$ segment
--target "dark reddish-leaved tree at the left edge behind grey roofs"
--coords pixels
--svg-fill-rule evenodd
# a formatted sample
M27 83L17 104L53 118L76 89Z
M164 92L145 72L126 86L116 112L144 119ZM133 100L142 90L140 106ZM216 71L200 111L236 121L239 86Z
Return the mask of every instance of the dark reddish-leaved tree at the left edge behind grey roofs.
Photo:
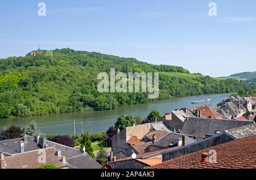
M24 133L24 129L20 129L18 126L11 126L7 130L0 133L0 140L16 139L20 138Z

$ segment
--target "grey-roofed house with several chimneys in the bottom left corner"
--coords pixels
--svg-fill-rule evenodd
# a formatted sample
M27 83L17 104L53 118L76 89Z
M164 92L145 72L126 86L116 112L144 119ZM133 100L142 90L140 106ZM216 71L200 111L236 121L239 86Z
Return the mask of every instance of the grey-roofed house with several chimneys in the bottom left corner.
M48 149L51 149L51 150L48 150ZM9 160L10 161L15 160L15 158L27 157L31 153L31 155L33 156L31 156L32 158L30 159L30 162L34 164L34 162L38 160L38 156L40 156L40 155L34 156L34 153L38 151L47 151L47 152L49 151L49 153L46 154L49 157L53 157L53 154L55 154L56 157L51 159L55 160L53 162L56 162L54 164L57 166L59 166L59 162L57 160L60 160L60 158L64 157L65 162L67 163L67 168L69 169L101 168L101 165L98 164L98 162L96 162L95 160L93 160L87 153L81 152L79 149L75 149L72 147L67 147L62 144L51 142L49 140L46 140L46 137L23 136L23 138L3 140L0 142L0 152L2 153L3 156L5 156L7 162ZM46 157L46 159L49 157ZM13 166L10 166L10 167L13 167ZM8 163L7 163L7 168L9 168ZM25 168L32 168L32 167L28 166ZM60 168L63 168L63 167L60 166Z

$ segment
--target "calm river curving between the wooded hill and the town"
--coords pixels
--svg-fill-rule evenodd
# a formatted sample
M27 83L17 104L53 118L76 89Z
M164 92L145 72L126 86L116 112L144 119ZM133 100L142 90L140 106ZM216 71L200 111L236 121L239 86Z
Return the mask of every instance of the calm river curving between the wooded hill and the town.
M101 112L62 113L34 117L0 119L0 127L2 130L11 125L24 127L28 122L35 120L38 123L40 131L44 132L46 135L72 135L74 134L75 120L76 134L81 134L82 132L101 132L108 130L110 126L113 126L121 114L137 114L142 118L145 118L152 109L155 109L164 115L167 112L171 112L171 110L183 107L195 108L196 106L200 106L202 104L191 104L191 102L201 100L204 97L210 98L212 101L208 104L212 107L216 107L218 102L225 100L230 95L231 93L181 97L171 100L155 101L148 104L123 106L117 109L104 110Z

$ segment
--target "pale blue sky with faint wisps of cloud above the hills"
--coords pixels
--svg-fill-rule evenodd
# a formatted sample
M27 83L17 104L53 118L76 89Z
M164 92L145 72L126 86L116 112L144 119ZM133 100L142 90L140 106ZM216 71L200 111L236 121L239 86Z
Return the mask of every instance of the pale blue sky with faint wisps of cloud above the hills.
M46 16L38 16L38 3ZM209 16L209 3L217 16ZM0 2L0 58L71 48L210 76L255 71L255 0L8 0Z

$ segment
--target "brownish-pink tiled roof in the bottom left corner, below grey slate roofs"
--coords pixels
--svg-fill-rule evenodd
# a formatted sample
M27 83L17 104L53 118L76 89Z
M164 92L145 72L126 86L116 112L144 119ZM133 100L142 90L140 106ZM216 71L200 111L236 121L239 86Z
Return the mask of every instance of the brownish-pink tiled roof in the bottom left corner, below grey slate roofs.
M39 151L46 152L46 163L38 161L39 157L42 156L42 153ZM54 148L38 149L5 157L5 161L7 169L34 169L46 164L55 164L59 168L67 166L68 164L61 162L61 157L57 157L55 153Z

